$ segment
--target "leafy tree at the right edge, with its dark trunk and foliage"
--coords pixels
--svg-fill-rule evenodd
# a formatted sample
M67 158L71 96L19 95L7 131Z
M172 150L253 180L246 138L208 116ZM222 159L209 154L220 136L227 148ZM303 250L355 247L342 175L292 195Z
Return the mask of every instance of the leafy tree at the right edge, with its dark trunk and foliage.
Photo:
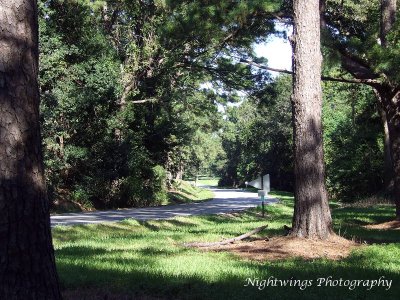
M396 216L400 217L399 22L396 0L326 1L324 41L341 62L349 82L371 86L386 132L386 165L392 161ZM347 77L348 78L348 77ZM390 152L389 152L390 150ZM391 172L386 168L387 173Z

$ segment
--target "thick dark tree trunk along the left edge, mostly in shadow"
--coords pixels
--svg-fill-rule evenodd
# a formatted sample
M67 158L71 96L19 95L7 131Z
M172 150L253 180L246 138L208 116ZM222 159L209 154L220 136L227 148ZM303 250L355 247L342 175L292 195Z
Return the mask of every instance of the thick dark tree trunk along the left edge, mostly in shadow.
M39 130L36 0L0 0L0 299L60 299Z

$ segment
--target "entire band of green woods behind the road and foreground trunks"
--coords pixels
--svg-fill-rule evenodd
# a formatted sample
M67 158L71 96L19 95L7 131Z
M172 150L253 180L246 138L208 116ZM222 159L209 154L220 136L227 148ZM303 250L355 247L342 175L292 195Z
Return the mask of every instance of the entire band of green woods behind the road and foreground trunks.
M385 153L392 158L393 151L387 154L376 92L398 82L396 31L385 33L385 47L375 45L380 1L368 9L325 4L323 76L338 79L323 84L329 194L391 193L393 162ZM167 197L172 179L201 172L234 186L269 173L274 188L293 190L291 77L271 78L245 63L265 65L252 45L285 35L274 25L292 25L290 1L51 0L39 7L53 201L153 205ZM371 78L360 73L367 67Z

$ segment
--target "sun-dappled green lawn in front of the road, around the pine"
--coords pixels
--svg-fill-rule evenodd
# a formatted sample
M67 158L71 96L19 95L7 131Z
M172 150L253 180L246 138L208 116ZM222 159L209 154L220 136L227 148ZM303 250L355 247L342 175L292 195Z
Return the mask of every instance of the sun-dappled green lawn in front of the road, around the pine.
M266 219L251 210L235 216L56 227L53 237L62 288L162 299L398 299L400 232L362 227L390 220L394 216L390 206L351 208L332 204L336 232L373 243L341 261L256 262L231 253L181 246L189 241L233 237L266 223L268 229L259 236L283 234L282 226L291 223L293 197L287 193L275 196L282 202L268 206ZM313 282L303 290L298 286L244 286L247 278L268 280L271 276ZM392 285L388 291L383 287L318 287L317 279L328 276L343 280L375 280L385 276L392 280Z

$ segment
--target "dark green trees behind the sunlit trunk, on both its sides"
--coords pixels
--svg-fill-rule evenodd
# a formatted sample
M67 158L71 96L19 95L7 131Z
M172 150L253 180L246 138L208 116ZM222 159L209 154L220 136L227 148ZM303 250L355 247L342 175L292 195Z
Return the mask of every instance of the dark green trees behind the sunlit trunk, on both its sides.
M260 173L272 186L293 191L291 77L278 77L257 103L229 110L223 145L222 184L242 185ZM337 199L384 196L384 133L373 91L364 86L323 84L327 187ZM382 194L381 194L382 193Z

